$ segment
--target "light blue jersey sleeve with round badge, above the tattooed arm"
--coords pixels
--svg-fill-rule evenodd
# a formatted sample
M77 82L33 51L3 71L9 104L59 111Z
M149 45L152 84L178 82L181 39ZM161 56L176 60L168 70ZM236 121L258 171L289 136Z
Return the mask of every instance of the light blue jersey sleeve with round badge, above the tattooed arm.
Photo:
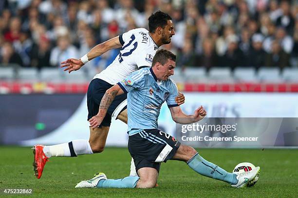
M141 89L144 87L144 74L140 72L140 70L133 72L128 77L126 77L123 81L118 82L117 84L124 91L124 93L128 93L134 89Z

